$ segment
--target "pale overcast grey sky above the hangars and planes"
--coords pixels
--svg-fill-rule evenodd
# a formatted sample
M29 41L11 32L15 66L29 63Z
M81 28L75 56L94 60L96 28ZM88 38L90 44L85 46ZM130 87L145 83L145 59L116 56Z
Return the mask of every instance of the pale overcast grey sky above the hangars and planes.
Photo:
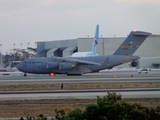
M159 0L0 0L0 51L94 37L97 24L103 37L160 34L159 6Z

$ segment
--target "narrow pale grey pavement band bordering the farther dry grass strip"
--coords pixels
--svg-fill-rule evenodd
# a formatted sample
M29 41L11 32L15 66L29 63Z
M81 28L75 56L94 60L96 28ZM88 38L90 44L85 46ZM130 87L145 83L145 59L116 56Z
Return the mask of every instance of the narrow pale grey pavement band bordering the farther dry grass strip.
M27 79L27 80L0 80L2 85L18 85L18 84L59 84L59 83L155 83L160 82L160 77L128 77L128 78L77 78L77 79Z

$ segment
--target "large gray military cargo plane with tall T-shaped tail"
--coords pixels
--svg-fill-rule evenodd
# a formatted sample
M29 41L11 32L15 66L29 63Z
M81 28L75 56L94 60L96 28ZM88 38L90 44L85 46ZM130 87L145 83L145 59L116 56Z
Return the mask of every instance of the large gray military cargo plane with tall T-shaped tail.
M112 69L123 63L140 59L133 56L144 40L151 33L142 31L131 31L126 40L112 55L90 56L90 57L37 57L23 60L17 65L19 71L32 74L67 74L82 75L86 73L99 72L104 69Z

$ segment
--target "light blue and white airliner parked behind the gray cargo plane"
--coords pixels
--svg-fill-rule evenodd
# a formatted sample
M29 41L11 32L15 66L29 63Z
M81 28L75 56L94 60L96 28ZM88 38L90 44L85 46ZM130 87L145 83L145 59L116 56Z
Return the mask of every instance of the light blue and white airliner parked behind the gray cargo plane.
M90 52L76 52L71 55L71 57L88 57L88 56L97 56L96 46L99 42L99 25L96 26L95 37L93 41L92 51Z

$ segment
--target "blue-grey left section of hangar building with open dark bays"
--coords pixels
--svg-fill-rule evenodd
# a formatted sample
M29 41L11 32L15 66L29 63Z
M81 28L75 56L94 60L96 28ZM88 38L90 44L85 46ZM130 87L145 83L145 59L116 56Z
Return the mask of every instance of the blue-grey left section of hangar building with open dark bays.
M77 39L37 42L37 57L69 56L78 51Z

